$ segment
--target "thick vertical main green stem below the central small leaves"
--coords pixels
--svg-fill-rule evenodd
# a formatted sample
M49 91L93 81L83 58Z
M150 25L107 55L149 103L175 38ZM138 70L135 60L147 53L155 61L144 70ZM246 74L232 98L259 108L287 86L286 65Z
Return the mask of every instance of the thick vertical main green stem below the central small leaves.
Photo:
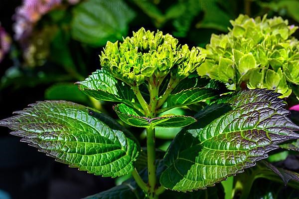
M147 128L147 151L148 151L148 175L149 175L149 199L157 199L156 188L156 169L155 169L155 137L154 128Z

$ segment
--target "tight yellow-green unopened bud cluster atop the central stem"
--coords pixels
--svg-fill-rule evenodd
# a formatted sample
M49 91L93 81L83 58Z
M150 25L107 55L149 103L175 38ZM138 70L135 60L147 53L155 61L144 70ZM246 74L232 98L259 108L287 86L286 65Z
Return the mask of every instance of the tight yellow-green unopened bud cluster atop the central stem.
M179 79L196 70L205 58L198 48L178 45L170 34L163 35L141 28L124 42L107 42L100 56L105 70L129 85L163 78L171 72Z

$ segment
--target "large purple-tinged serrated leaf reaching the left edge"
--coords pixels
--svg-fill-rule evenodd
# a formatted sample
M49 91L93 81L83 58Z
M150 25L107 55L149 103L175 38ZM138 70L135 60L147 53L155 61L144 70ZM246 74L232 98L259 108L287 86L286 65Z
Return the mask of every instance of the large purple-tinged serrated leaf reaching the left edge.
M58 162L105 177L123 176L134 169L139 144L130 132L96 110L44 101L15 113L1 120L0 126L9 127L11 134Z

